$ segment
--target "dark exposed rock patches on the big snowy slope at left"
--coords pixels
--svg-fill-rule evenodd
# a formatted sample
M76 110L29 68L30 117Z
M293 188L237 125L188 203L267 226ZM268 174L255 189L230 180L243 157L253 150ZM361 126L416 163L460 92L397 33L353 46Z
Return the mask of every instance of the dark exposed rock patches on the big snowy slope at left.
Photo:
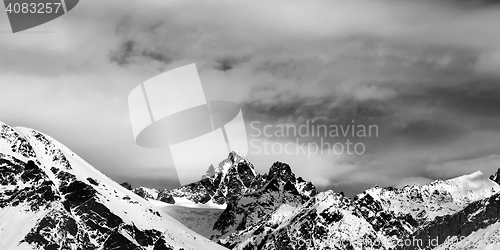
M127 230L132 230L133 224L124 223L111 212L100 200L93 184L78 180L74 174L59 168L51 169L55 177L52 180L32 160L24 163L1 155L0 164L2 186L6 187L0 208L45 211L21 243L41 249L98 249L102 245L139 247L137 242L122 235L131 233ZM149 234L143 237L143 246L152 246L162 235L155 229L151 229Z

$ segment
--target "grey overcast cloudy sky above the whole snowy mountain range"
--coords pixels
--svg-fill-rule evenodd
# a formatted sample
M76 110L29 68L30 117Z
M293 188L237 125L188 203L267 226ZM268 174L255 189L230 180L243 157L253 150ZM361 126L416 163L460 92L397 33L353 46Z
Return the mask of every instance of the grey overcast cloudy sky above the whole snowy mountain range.
M118 182L173 188L168 148L135 144L127 97L196 63L216 99L241 105L249 134L253 121L379 129L350 138L362 155L251 151L261 173L281 160L349 195L490 175L500 168L499 23L499 4L465 0L87 0L12 34L2 11L0 121L51 135Z

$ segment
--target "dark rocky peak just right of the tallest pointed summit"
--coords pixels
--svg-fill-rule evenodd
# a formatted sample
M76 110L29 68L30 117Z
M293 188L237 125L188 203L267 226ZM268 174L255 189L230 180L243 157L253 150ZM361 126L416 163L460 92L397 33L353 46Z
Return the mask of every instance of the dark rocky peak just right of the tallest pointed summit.
M275 162L268 173L258 175L245 193L228 203L214 225L218 233L212 239L235 247L264 225L278 226L286 215L315 194L314 185L297 179L288 164Z

